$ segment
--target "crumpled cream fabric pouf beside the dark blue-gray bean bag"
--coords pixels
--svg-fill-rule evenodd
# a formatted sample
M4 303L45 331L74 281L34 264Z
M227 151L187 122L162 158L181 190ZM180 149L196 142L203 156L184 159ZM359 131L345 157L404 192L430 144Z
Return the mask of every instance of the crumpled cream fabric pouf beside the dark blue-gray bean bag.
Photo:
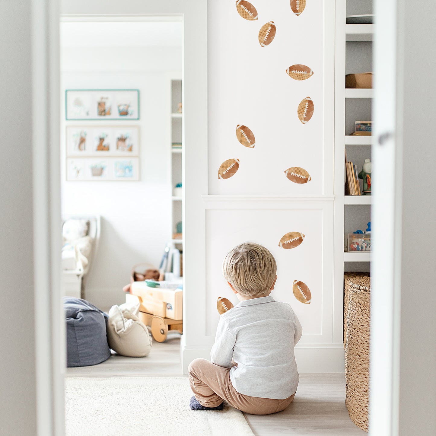
M139 304L112 306L109 310L107 338L109 347L128 357L144 357L150 353L151 339L148 329L136 316Z

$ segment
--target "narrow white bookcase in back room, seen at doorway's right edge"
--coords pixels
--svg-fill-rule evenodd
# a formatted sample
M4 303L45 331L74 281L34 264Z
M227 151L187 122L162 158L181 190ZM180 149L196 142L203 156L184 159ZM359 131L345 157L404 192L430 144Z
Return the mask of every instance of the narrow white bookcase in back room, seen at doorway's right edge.
M178 112L178 104L182 102L182 81L179 79L172 79L170 81L171 87L171 204L172 204L172 228L171 228L171 243L183 252L183 240L172 239L173 234L176 233L177 223L182 221L182 196L174 195L174 187L177 183L182 182L182 148L175 148L175 144L182 143L182 120L183 113ZM182 109L183 110L183 109Z

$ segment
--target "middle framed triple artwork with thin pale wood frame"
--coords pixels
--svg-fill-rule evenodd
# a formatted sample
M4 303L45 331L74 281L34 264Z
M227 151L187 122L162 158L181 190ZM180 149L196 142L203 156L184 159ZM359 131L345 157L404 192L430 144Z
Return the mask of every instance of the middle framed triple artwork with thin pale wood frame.
M68 126L67 157L138 156L139 127Z

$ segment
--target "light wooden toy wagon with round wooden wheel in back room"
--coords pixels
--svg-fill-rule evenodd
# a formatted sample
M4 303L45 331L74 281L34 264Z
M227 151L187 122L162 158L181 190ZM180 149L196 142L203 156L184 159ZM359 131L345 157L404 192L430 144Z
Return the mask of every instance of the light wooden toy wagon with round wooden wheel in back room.
M146 282L133 282L126 302L140 303L140 320L151 327L157 342L164 342L169 330L183 333L182 297L181 289L152 288Z

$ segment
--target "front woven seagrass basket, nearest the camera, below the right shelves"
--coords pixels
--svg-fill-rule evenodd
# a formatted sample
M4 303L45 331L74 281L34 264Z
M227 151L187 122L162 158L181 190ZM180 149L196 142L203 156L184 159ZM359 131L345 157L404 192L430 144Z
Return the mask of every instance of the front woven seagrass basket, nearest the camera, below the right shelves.
M370 293L350 295L345 342L345 405L351 420L368 431Z

